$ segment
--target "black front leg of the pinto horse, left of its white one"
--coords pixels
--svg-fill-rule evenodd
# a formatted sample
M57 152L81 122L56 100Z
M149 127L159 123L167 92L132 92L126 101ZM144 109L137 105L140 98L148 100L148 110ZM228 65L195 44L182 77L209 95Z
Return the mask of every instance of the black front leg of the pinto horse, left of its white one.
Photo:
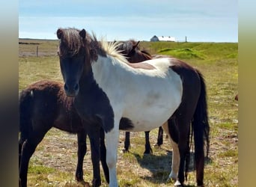
M91 143L91 161L93 163L94 179L92 186L100 186L100 123L91 124L88 128L88 136Z

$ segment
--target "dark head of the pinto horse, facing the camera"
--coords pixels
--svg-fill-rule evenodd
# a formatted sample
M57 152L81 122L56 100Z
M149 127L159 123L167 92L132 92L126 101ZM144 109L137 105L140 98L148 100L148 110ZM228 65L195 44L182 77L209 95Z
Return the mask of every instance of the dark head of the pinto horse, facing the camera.
M79 92L79 79L91 68L91 62L97 61L97 51L85 29L59 28L59 59L61 74L64 79L64 91L67 96L76 96Z

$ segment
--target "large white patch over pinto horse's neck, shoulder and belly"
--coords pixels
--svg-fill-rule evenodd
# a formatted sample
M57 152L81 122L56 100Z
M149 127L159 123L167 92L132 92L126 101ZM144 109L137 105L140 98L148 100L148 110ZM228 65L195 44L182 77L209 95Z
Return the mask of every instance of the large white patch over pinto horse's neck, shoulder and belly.
M121 56L122 57L122 56ZM169 58L147 61L153 70L134 69L125 58L99 55L92 64L94 79L112 105L114 113L134 122L130 131L148 131L165 123L181 102L180 76L170 68ZM150 120L146 120L150 116Z

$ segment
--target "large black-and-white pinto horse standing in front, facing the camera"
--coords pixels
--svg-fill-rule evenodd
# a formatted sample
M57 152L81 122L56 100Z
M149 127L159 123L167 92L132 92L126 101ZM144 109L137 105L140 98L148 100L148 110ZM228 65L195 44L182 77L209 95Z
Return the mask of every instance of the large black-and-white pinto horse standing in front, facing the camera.
M171 141L178 159L169 177L177 180L177 186L183 185L187 142L192 130L196 180L198 186L203 186L204 144L209 146L210 127L201 73L176 58L130 64L116 49L117 44L98 42L85 29L59 28L57 37L65 93L74 96L74 106L82 119L100 121L104 129L109 186L118 186L119 130L145 132L161 124L171 139L178 142Z

